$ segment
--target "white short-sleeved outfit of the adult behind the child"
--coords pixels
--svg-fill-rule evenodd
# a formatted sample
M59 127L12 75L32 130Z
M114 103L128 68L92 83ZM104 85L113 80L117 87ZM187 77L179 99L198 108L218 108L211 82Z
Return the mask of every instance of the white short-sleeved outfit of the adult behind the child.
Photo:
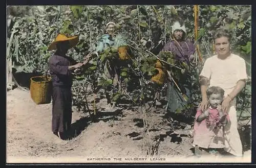
M210 86L223 88L226 97L239 80L247 79L245 61L235 54L230 54L224 60L215 55L206 59L200 76L208 78ZM228 114L230 124L224 127L225 151L236 156L242 156L242 143L237 128L236 99L231 102Z

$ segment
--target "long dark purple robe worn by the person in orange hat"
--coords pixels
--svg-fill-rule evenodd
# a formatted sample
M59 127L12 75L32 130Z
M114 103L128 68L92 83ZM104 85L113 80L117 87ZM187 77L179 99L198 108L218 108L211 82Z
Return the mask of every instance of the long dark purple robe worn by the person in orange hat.
M67 132L72 119L72 74L69 67L75 61L67 56L53 55L49 59L52 76L52 131Z

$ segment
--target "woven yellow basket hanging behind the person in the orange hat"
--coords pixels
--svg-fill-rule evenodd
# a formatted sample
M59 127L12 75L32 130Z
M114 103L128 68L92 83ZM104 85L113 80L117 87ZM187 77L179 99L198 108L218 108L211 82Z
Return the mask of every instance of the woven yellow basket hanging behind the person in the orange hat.
M30 78L30 95L36 104L51 103L52 81L45 76Z

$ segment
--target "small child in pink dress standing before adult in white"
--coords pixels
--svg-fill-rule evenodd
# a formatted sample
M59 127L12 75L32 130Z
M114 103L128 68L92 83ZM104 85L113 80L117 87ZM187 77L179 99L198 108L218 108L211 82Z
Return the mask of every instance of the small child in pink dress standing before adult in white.
M224 90L218 86L211 86L206 94L210 106L204 112L197 111L193 131L193 147L196 155L204 151L217 154L225 147L223 126L229 122L229 116L221 110Z

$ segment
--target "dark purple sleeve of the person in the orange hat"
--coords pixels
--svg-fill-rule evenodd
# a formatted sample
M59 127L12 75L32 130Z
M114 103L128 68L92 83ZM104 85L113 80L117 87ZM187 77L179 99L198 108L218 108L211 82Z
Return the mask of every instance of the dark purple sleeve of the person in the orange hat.
M48 64L51 71L53 71L55 74L69 75L70 73L69 66L60 65L60 61L55 57L50 57Z

